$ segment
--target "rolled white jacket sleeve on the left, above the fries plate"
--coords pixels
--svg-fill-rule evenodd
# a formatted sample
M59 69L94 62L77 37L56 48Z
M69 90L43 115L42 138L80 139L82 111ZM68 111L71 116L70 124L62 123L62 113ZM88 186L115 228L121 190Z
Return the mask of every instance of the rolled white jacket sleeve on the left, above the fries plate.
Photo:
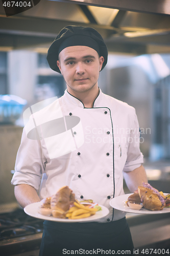
M11 183L13 185L28 184L38 190L41 176L44 173L45 161L40 141L27 138L26 131L23 129Z

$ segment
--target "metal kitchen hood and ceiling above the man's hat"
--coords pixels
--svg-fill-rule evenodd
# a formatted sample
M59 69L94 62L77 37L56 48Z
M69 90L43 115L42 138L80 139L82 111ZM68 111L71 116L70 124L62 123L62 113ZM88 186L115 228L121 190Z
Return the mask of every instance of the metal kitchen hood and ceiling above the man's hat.
M0 2L0 50L39 47L44 51L64 26L80 25L98 30L110 52L169 53L169 14L170 0L41 0L6 17Z

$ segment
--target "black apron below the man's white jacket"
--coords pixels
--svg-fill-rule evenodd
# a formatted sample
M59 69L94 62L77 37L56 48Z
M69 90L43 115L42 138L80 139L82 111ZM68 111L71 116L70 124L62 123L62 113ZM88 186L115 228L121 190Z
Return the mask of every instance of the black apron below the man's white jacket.
M39 256L123 255L126 250L133 254L133 249L126 218L109 223L44 221Z

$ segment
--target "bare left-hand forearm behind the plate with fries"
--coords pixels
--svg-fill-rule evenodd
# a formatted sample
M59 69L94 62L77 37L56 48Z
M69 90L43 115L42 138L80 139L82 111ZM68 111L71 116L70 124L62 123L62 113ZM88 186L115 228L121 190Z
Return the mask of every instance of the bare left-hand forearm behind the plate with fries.
M40 198L34 187L28 184L15 185L14 193L19 205L24 208L28 204L40 202Z

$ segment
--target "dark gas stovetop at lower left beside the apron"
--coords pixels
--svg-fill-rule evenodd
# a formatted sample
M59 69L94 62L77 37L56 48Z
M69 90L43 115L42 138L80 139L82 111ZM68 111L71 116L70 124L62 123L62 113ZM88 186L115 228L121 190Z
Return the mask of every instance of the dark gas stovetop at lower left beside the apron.
M41 243L43 220L27 215L22 209L0 214L0 251L13 255L37 249Z

